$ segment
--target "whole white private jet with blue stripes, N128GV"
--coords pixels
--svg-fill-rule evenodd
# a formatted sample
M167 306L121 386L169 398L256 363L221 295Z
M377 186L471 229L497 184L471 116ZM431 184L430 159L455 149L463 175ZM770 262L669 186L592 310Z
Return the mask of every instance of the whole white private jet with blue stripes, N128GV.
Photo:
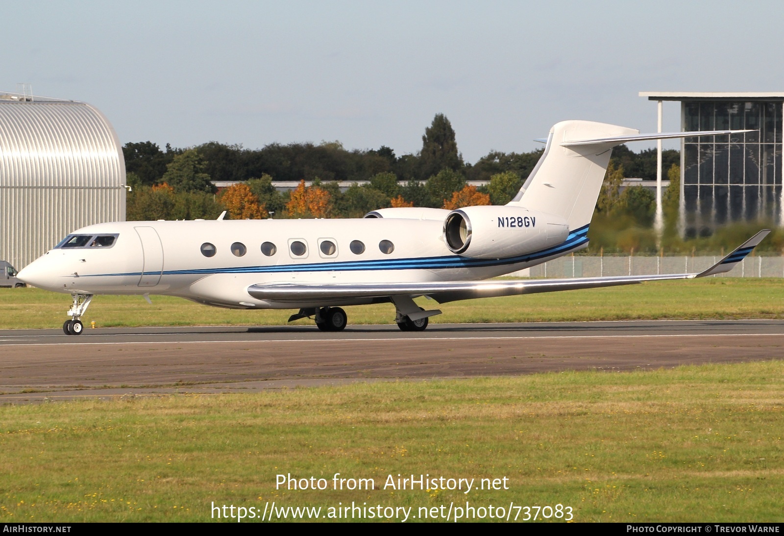
M225 308L298 309L321 330L342 330L341 305L389 303L401 330L424 330L413 298L510 296L688 279L728 272L763 231L702 273L480 282L588 244L588 225L615 145L746 132L640 134L622 126L560 122L539 163L504 206L391 208L354 220L122 221L68 235L19 273L71 294L63 326L81 334L95 294L167 294Z

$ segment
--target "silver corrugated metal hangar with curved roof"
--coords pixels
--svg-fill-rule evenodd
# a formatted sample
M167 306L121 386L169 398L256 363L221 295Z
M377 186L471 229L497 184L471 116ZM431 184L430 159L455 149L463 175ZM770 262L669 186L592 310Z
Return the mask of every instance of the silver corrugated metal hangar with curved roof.
M103 221L125 221L125 160L103 114L74 100L0 96L0 259L24 268Z

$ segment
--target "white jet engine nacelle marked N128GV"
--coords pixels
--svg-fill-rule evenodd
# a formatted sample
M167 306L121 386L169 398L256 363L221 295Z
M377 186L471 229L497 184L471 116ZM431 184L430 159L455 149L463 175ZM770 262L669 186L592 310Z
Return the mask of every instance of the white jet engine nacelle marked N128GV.
M562 217L521 206L466 206L444 221L444 241L453 253L481 259L516 257L564 242Z

